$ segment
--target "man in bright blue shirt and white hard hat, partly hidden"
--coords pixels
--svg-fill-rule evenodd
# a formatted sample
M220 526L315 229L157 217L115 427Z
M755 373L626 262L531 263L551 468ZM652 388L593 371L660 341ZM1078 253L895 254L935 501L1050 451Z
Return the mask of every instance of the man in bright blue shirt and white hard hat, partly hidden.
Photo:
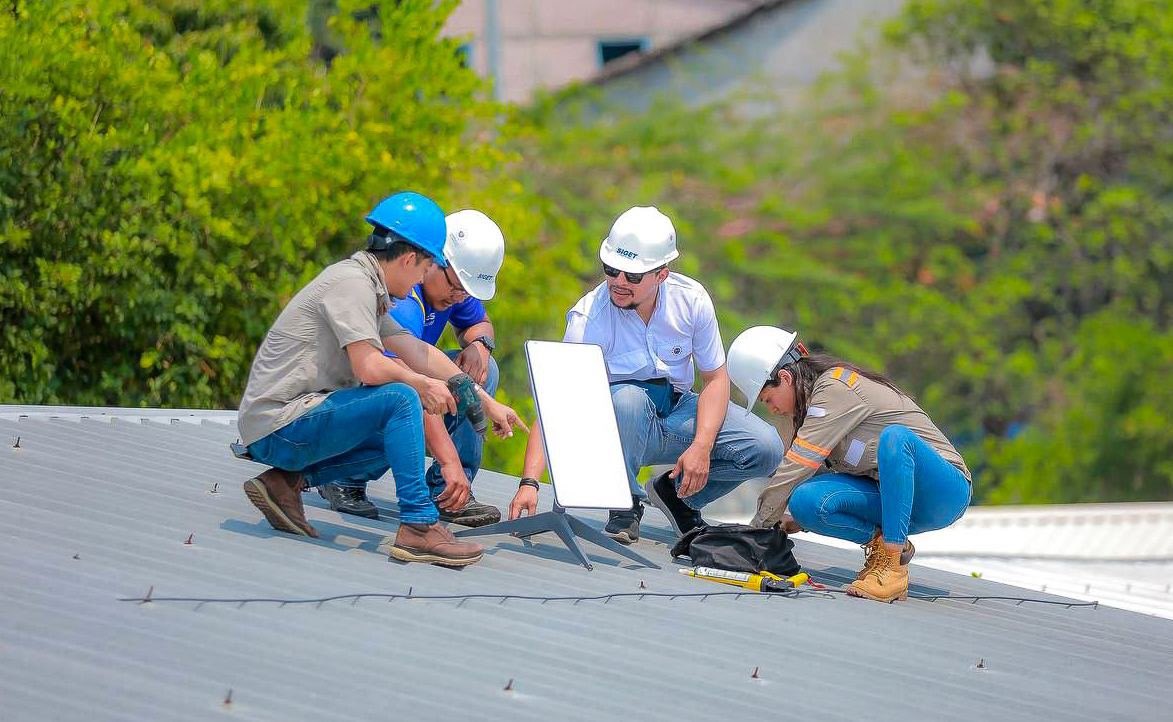
M391 308L391 316L415 338L436 346L450 323L460 350L448 355L473 381L491 396L497 390L497 365L493 359L495 333L484 304L496 293L496 275L504 260L504 237L480 211L465 210L446 219L448 266L433 266L406 300ZM449 484L469 485L481 466L484 438L465 416L425 415L423 436L435 462L427 471L432 498ZM330 508L344 513L378 518L379 510L366 498L366 482L338 482L318 488ZM501 519L501 510L477 502L454 511L440 511L445 522L482 526Z

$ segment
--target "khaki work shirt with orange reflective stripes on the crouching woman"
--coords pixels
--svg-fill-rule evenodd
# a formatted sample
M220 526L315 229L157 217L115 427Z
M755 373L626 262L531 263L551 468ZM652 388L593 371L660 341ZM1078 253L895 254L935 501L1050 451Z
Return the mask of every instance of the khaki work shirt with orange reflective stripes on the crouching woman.
M751 524L773 526L780 522L794 489L820 471L879 481L880 432L893 424L907 427L972 482L965 459L916 402L849 368L835 367L815 379L806 418L758 496L758 513Z

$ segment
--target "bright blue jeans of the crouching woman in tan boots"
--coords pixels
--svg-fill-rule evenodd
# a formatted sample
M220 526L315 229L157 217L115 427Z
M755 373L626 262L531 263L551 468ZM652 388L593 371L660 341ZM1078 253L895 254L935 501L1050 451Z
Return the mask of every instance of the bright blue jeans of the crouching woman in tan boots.
M802 529L866 544L879 527L883 540L944 529L961 518L972 491L965 476L907 427L880 434L880 482L822 474L791 495L791 516Z

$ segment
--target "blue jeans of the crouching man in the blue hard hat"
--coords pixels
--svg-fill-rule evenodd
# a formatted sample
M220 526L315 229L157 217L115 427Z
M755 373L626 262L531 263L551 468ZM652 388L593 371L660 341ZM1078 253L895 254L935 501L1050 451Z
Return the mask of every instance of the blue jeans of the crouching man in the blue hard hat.
M340 389L249 444L252 458L300 471L310 486L395 477L399 518L434 524L440 516L423 481L423 409L406 383Z

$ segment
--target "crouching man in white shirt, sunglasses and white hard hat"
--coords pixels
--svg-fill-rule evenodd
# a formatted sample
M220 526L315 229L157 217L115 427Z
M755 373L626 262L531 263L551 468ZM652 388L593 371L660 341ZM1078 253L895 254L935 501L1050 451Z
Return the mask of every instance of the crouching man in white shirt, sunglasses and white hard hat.
M730 402L712 299L697 281L669 271L678 256L676 230L664 213L628 210L599 250L604 282L567 314L563 340L595 343L606 361L632 497L631 509L611 512L606 532L626 544L639 538L644 500L663 511L678 534L686 533L704 524L701 508L746 479L769 476L784 454L773 427ZM692 391L693 363L699 394ZM636 478L651 464L674 465L645 491ZM534 479L544 466L535 428L510 518L534 513Z

